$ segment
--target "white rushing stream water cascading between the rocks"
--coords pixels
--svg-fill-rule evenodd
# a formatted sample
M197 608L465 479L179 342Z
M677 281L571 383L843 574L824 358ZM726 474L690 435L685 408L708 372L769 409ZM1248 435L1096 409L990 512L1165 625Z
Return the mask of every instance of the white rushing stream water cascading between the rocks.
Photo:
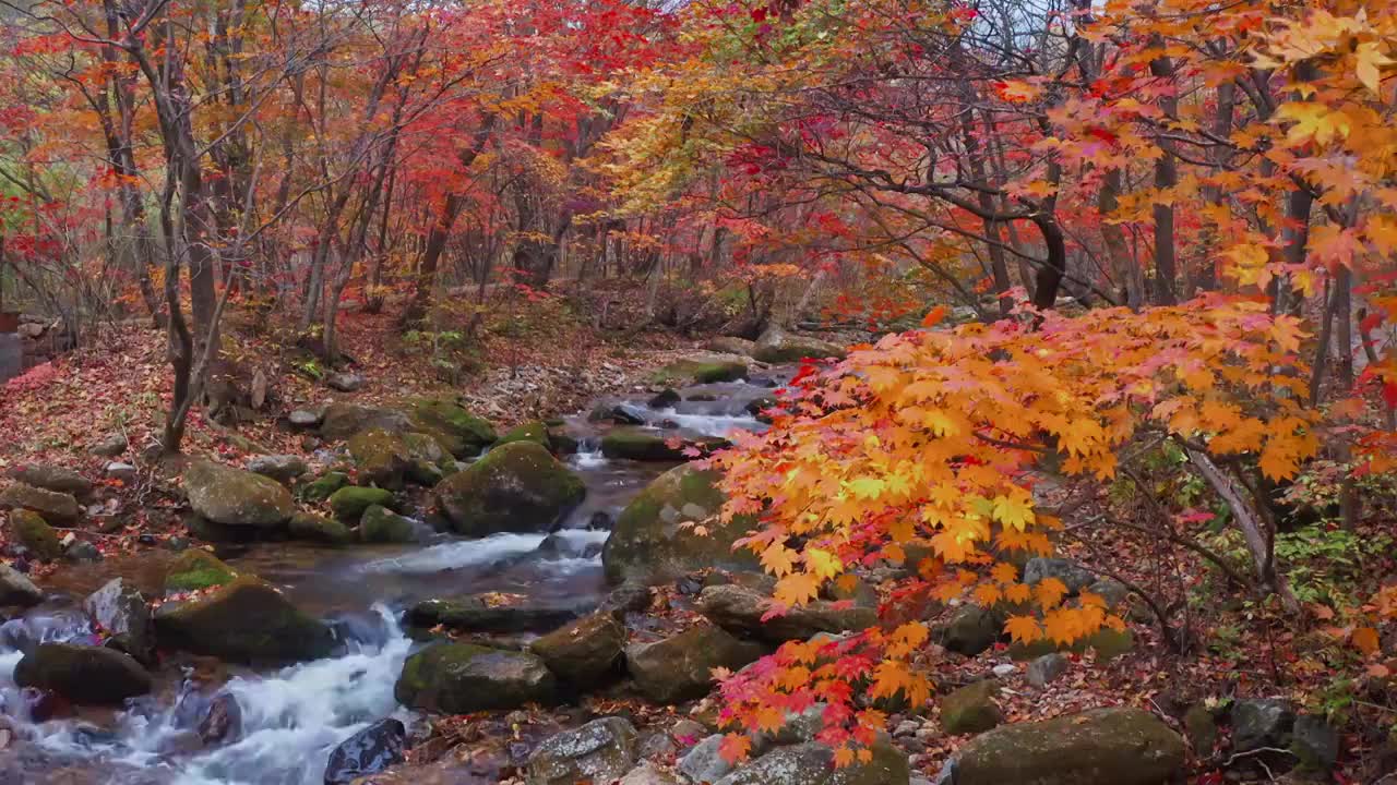
M624 402L644 416L638 427L665 436L728 436L763 427L746 406L774 386L767 380L697 386L662 409L650 409L644 398ZM197 663L175 673L166 666L154 696L120 711L35 722L27 696L14 684L14 668L38 643L95 640L77 608L82 595L73 592L4 623L0 722L15 739L0 751L0 785L321 785L339 742L384 717L414 721L393 697L415 645L398 624L407 606L483 591L566 602L578 610L601 602L606 585L599 550L610 522L671 464L609 461L597 451L605 426L583 415L567 425L583 448L566 461L585 482L587 500L548 549L539 548L545 534L433 535L415 546L258 545L229 557L281 587L307 612L332 620L342 641L332 658L215 679L194 673ZM210 701L225 693L240 708L242 732L232 742L205 746L196 726Z

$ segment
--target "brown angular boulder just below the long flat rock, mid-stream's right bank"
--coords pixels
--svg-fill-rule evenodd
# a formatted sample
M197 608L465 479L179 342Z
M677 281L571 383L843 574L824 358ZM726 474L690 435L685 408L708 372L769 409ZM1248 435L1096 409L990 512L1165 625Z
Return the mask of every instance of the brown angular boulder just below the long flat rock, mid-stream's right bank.
M767 654L761 644L732 637L722 627L698 624L678 636L626 647L626 669L654 703L700 698L712 689L712 669L738 670Z

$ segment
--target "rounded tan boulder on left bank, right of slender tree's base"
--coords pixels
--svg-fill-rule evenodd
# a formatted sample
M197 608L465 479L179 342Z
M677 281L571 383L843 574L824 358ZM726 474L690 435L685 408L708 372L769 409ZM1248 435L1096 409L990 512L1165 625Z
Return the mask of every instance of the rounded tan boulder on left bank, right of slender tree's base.
M296 511L291 492L279 482L214 461L190 464L184 490L196 513L229 527L279 527Z

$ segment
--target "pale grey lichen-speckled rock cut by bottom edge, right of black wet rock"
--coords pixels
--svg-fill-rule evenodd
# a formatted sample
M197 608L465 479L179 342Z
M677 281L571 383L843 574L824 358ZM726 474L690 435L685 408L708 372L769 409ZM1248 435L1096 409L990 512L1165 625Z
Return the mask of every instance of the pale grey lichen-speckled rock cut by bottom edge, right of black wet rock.
M637 733L619 717L546 739L528 757L527 785L610 782L636 765Z

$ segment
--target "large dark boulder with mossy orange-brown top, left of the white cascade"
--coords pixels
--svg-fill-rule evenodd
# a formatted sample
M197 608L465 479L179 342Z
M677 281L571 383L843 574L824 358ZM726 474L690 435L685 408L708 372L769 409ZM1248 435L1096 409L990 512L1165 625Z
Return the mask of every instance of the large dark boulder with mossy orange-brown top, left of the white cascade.
M253 575L166 602L155 610L155 633L162 647L251 665L320 659L335 647L328 626Z

